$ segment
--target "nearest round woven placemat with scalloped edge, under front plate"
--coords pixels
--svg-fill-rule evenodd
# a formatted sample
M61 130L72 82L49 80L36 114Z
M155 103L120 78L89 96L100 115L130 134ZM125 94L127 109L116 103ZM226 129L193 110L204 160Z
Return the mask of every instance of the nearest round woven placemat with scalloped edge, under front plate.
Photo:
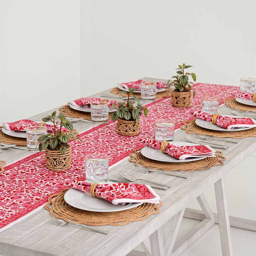
M51 195L48 198L48 203L45 208L50 211L50 214L57 218L63 219L66 222L75 222L90 226L122 226L132 221L144 220L152 214L159 212L160 204L144 203L138 207L115 212L93 212L80 210L68 205L64 200L64 195L69 189L63 189L58 194ZM55 197L55 198L54 198ZM54 200L52 200L54 198ZM103 199L102 199L103 200ZM51 205L51 206L50 206Z

